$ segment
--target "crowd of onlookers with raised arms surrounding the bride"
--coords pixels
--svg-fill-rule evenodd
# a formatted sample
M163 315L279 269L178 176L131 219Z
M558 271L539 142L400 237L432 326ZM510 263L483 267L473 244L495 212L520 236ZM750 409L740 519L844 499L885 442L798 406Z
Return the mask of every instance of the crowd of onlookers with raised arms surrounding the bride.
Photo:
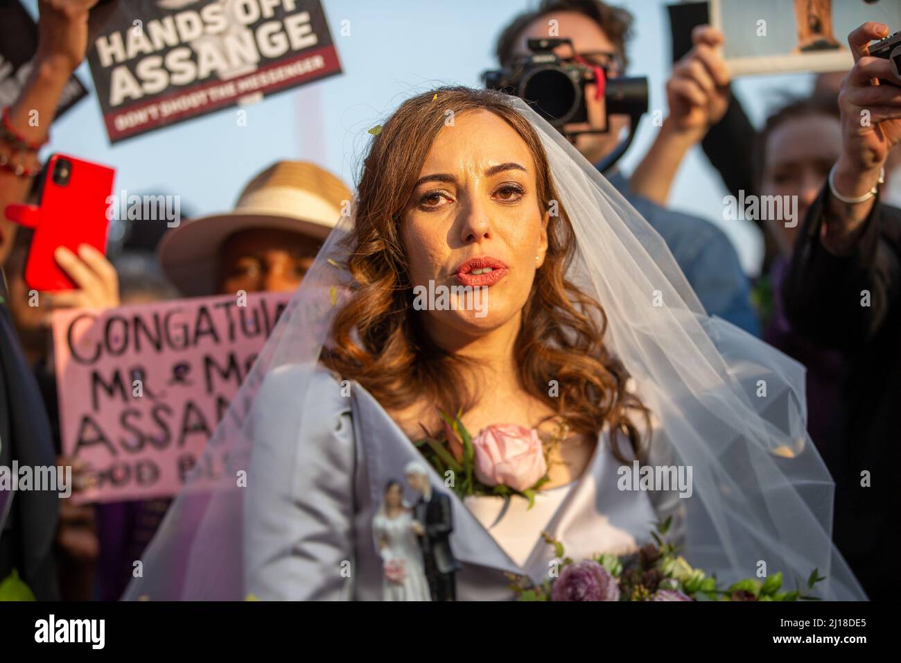
M39 3L35 66L0 134L0 209L40 195L39 149L63 86L85 57L95 4ZM591 60L608 78L625 73L633 17L601 0L542 0L512 17L499 26L498 65L510 66L528 38L546 36L551 18L575 51L560 47L561 57ZM733 93L719 51L723 34L698 26L693 48L673 67L669 115L649 152L631 176L615 167L603 173L666 243L708 314L804 365L806 428L835 482L833 540L871 599L899 585L890 566L901 504L888 476L901 460L901 210L880 198L898 160L901 81L894 85L888 60L866 55L869 41L887 33L877 23L860 26L848 38L851 71L819 75L811 95L787 99L755 128ZM587 97L589 121L599 121L603 98ZM35 110L39 124L29 121ZM862 110L870 114L866 126ZM572 144L600 163L625 122L614 116L609 132L578 134ZM766 254L754 279L719 227L668 207L679 165L698 144L734 196L797 201L797 223L757 221ZM40 293L37 307L24 277L32 231L0 220L0 465L72 465L76 490L92 481L77 459L62 457L54 310L297 289L355 187L308 161L275 161L247 175L232 211L182 216L172 228L164 220L123 221L123 238L105 254L60 249L57 261L76 287ZM75 505L55 494L18 494L0 532L0 580L17 569L39 600L117 600L170 503Z

